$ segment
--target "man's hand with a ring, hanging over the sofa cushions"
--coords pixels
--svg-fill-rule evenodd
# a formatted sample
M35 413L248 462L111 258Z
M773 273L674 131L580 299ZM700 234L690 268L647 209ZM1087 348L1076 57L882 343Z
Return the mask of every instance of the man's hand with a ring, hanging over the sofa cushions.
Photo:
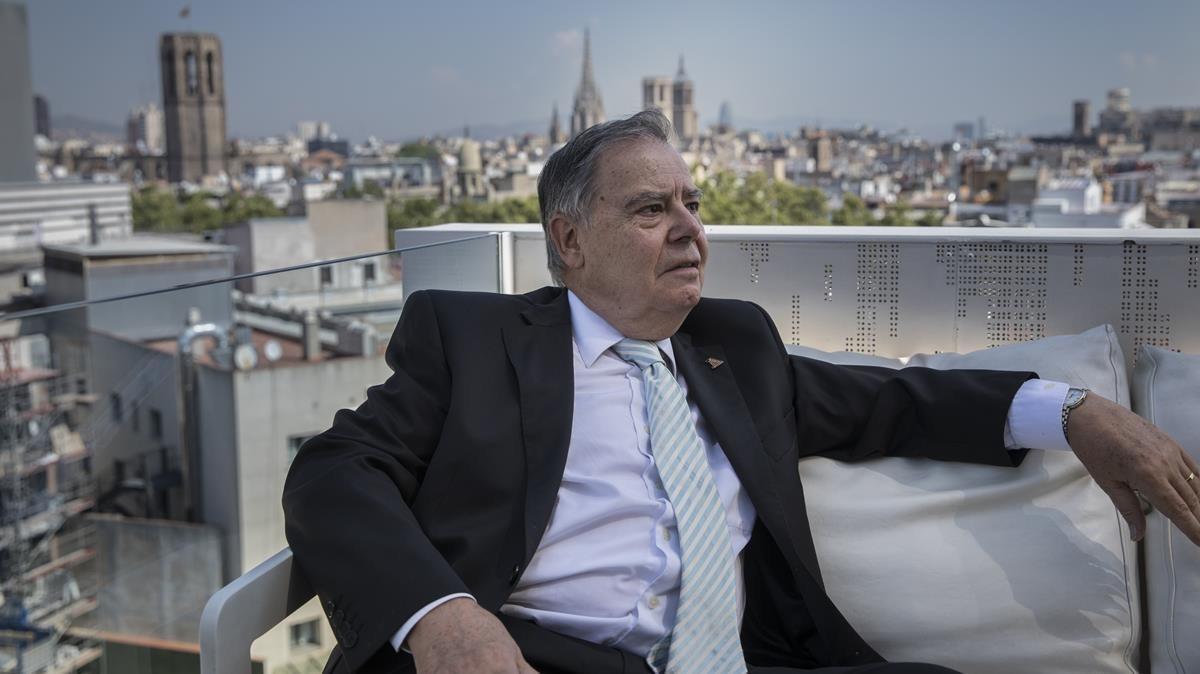
M1200 468L1175 440L1094 392L1072 410L1067 423L1070 447L1129 522L1133 540L1146 532L1136 489L1200 546Z

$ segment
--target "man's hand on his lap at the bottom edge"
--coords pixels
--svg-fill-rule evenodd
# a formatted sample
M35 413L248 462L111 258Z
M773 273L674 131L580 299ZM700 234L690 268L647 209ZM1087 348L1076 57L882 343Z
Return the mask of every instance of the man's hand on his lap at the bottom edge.
M466 597L420 619L408 634L420 674L536 674L500 621Z

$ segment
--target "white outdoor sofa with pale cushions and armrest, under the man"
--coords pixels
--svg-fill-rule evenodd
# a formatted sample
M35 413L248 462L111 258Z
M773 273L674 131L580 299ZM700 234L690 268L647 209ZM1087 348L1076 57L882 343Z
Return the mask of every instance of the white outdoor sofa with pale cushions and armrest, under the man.
M1106 325L907 363L790 349L1033 369L1132 404L1200 458L1200 356L1146 347L1130 377ZM1133 673L1147 660L1153 674L1200 674L1200 550L1152 513L1142 586L1138 546L1070 452L1032 451L1018 469L809 458L799 470L826 585L886 657L967 674ZM290 568L283 550L214 595L205 674L248 673L251 640L311 597Z

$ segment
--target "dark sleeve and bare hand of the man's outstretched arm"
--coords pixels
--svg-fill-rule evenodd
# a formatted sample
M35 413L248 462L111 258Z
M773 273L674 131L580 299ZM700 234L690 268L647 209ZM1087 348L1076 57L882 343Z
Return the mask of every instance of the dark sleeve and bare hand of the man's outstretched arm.
M1025 450L1006 449L1004 428L1033 373L893 371L787 356L774 323L758 311L792 368L802 451L845 461L924 456L1018 465L1025 458ZM1094 393L1070 413L1067 439L1134 540L1146 531L1140 493L1200 546L1200 467L1175 440Z

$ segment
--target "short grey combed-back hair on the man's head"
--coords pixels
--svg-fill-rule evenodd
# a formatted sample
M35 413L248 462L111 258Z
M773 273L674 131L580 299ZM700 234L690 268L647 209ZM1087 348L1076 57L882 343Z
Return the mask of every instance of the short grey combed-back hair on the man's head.
M563 284L565 265L550 237L550 221L562 213L578 225L587 225L600 156L618 143L638 138L671 143L671 122L658 110L642 110L625 119L598 124L551 155L541 169L538 205L541 229L546 233L546 266L554 283Z

